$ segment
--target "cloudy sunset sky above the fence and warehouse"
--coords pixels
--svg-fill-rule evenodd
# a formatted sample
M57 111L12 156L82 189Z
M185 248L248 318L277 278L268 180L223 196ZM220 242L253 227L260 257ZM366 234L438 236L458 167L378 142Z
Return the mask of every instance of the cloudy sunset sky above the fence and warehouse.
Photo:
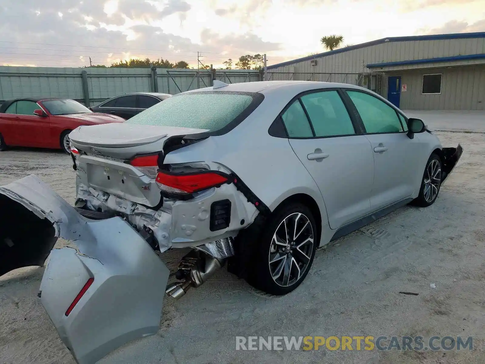
M267 53L275 64L388 36L485 31L485 0L0 0L0 65L109 66L130 57L197 67Z

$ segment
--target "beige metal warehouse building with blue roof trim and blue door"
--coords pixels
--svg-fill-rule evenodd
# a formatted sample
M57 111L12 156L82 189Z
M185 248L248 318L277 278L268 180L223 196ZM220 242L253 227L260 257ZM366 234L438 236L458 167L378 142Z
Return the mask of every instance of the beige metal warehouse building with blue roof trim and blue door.
M358 84L401 109L485 110L485 32L384 38L266 69L268 80Z

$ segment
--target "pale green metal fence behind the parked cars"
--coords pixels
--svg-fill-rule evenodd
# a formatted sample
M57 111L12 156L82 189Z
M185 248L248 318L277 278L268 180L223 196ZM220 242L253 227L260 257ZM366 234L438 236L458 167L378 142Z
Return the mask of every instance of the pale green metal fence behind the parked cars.
M0 66L0 104L19 97L61 97L84 103L85 71L90 105L131 92L154 91L149 68L67 68ZM215 78L226 83L261 81L257 70L216 70ZM157 69L158 92L172 95L210 86L212 74L196 69Z

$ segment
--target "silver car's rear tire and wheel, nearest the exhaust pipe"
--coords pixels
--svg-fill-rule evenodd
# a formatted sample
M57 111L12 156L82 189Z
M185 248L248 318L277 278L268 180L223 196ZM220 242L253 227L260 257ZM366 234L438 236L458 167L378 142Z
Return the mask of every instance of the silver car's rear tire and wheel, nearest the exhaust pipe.
M261 229L246 280L272 295L290 293L307 276L319 242L307 206L298 202L281 206Z

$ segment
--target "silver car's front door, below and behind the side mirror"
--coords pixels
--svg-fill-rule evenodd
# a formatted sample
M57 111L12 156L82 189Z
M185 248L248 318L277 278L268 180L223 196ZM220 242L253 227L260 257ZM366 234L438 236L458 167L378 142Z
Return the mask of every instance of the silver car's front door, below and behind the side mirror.
M410 197L415 188L413 176L419 160L418 138L409 139L407 125L386 101L359 90L347 90L371 142L374 157L372 211ZM404 120L403 120L404 121Z

